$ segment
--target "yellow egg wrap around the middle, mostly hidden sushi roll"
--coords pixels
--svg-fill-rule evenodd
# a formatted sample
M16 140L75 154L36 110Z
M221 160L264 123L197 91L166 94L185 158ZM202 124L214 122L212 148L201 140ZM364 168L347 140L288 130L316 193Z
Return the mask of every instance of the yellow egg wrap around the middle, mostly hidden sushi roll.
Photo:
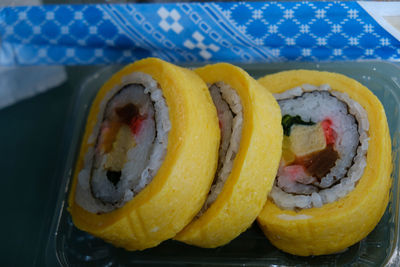
M272 188L282 146L281 113L272 94L244 70L220 63L196 69L209 85L224 82L243 107L240 147L221 193L174 239L200 247L224 245L245 231Z

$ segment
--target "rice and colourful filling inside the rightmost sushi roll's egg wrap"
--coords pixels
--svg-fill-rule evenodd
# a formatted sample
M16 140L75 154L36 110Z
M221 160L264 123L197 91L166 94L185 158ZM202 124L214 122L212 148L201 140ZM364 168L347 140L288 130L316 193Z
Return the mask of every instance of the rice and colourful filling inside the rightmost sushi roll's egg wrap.
M307 209L351 192L366 166L366 111L328 85L276 94L282 111L282 158L269 197L283 209Z

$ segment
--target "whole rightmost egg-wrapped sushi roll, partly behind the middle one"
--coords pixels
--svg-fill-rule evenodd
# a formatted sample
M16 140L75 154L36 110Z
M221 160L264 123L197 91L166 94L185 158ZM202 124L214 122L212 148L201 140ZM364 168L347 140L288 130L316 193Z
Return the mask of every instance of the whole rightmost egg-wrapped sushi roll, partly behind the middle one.
M279 249L301 256L340 252L385 212L391 141L384 109L341 74L293 70L259 82L282 111L282 158L258 222Z

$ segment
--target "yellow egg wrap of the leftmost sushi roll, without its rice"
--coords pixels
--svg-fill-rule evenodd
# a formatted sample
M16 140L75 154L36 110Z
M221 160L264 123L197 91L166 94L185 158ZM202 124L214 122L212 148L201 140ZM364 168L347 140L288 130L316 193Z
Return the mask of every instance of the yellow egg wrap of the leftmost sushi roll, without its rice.
M94 214L75 202L78 173L90 146L102 99L133 72L158 82L169 109L171 130L165 159L153 180L123 207ZM69 196L76 227L127 250L143 250L172 238L200 210L218 160L220 133L206 84L192 71L159 59L137 61L116 73L93 101Z

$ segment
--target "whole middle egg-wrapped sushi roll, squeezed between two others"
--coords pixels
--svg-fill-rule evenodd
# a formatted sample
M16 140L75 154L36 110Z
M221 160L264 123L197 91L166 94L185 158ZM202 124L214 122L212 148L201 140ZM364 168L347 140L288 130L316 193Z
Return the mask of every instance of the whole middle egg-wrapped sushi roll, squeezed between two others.
M242 69L220 63L195 72L209 86L221 143L207 200L175 239L213 248L245 231L261 211L281 156L281 115L272 94Z

